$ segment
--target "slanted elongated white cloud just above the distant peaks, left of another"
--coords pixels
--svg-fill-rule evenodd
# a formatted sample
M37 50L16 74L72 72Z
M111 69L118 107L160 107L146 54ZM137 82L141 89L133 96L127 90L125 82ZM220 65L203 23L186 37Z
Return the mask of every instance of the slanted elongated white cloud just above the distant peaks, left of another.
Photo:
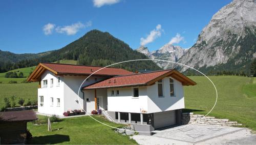
M150 35L147 35L146 38L140 38L140 45L146 45L148 43L153 42L155 39L161 36L162 32L163 32L163 29L161 28L161 25L158 24L156 26L156 29L150 32Z

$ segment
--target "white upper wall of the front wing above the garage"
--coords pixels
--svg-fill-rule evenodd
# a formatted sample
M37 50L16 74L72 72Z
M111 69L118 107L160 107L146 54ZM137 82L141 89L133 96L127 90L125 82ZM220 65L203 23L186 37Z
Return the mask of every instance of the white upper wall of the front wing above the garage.
M139 86L139 97L133 97L133 88L108 89L108 110L119 112L147 113L184 108L184 92L181 82L174 79L175 96L169 92L169 77L163 79L163 97L158 97L157 83L150 86ZM119 90L119 96L111 96L111 91Z

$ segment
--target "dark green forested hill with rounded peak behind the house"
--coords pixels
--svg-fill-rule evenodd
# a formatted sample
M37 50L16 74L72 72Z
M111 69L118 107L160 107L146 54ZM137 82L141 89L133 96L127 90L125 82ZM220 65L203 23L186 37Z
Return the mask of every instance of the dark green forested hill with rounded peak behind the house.
M14 62L12 65L22 68L37 65L39 62L56 62L66 59L77 60L79 65L106 66L127 60L147 59L144 54L133 50L129 45L113 37L108 32L103 33L98 30L88 32L61 49L31 57L34 58L24 59L17 63ZM123 63L114 67L122 67L132 71L160 69L155 63L149 61Z

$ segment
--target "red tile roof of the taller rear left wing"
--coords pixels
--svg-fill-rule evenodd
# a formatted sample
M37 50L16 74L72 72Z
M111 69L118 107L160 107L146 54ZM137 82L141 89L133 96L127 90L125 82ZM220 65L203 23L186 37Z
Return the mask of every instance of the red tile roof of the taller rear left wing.
M95 66L82 66L82 65L67 65L67 64L54 64L54 63L41 63L42 65L56 71L58 74L92 74L93 72L103 68ZM120 68L104 68L94 75L130 75L133 72L120 69Z

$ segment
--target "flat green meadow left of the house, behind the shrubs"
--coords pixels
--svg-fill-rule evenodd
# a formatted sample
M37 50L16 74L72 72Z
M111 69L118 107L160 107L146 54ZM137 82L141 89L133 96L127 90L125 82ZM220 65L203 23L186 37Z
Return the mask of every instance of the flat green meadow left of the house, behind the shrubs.
M12 84L0 83L0 108L4 106L4 98L12 95L18 98L24 98L25 103L28 99L31 101L37 100L37 87L38 82Z

